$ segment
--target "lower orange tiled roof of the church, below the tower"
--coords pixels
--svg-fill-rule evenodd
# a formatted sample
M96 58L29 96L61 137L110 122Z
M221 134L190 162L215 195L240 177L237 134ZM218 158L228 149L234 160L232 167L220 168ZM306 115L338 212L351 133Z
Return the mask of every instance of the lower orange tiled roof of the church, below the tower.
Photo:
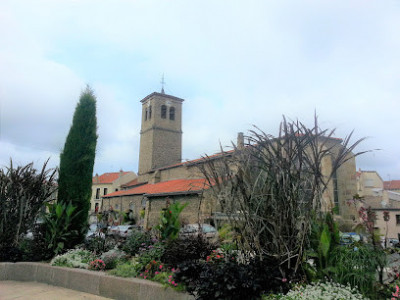
M161 196L171 194L196 194L208 188L209 185L205 179L176 179L154 184L144 184L129 190L107 194L103 198L132 195Z

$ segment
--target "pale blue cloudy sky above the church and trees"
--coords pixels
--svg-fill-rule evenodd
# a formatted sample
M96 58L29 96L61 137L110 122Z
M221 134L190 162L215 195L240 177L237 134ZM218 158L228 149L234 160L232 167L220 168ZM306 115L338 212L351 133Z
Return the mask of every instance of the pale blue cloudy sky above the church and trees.
M80 93L97 97L94 173L137 172L141 103L183 103L182 159L283 116L336 128L357 169L400 179L400 1L2 0L0 167L57 167Z

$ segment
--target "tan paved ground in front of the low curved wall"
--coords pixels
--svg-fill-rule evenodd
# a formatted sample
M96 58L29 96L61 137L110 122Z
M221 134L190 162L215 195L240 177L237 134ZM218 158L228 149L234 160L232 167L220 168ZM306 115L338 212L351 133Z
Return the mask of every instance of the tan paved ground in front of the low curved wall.
M39 282L0 281L1 300L106 300L88 293Z

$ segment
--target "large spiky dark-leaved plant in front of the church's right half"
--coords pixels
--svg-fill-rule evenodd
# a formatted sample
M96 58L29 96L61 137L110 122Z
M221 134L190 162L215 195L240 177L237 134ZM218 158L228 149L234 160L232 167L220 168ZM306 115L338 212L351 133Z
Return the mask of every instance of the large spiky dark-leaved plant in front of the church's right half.
M260 260L275 259L282 278L289 278L304 261L323 192L343 163L364 153L353 153L363 139L350 144L352 133L335 139L334 130L319 129L316 117L312 128L283 118L278 137L258 128L250 133L244 147L233 145L220 159L206 156L200 169L239 231L240 248ZM323 172L326 161L331 168Z

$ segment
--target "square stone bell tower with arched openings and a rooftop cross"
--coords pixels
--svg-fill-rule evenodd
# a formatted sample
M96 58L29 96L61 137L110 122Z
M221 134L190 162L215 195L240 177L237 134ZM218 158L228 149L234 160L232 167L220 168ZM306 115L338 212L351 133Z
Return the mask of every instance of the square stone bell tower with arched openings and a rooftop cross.
M139 174L180 163L182 159L182 102L154 92L143 98Z

